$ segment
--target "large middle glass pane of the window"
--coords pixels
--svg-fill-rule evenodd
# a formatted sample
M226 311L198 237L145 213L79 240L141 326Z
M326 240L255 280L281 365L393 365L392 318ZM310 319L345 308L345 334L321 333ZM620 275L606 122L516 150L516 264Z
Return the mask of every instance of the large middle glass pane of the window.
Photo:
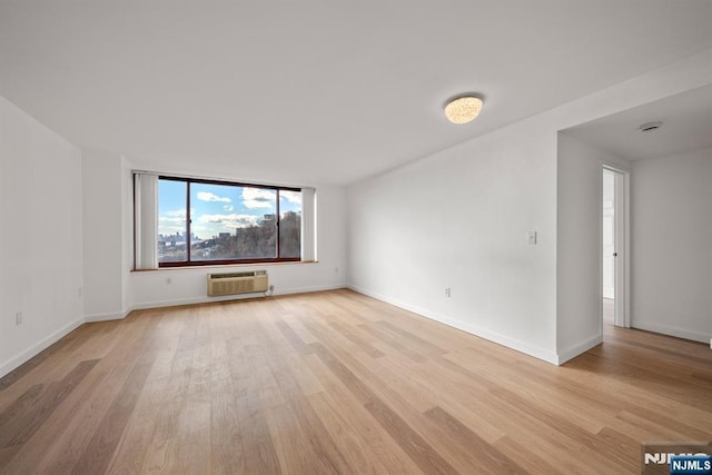
M274 189L191 184L191 260L276 258L276 214Z

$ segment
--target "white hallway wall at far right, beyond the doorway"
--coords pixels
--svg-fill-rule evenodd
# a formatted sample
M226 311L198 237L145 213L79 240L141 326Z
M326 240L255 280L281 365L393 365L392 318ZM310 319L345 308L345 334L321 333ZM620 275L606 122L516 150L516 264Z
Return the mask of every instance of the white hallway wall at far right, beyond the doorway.
M631 325L712 338L712 148L633 165Z

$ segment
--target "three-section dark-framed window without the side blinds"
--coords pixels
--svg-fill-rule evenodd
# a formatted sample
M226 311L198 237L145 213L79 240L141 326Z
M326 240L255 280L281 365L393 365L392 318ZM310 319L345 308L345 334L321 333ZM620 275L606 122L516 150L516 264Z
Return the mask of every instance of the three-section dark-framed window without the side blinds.
M158 264L299 260L301 190L159 177Z

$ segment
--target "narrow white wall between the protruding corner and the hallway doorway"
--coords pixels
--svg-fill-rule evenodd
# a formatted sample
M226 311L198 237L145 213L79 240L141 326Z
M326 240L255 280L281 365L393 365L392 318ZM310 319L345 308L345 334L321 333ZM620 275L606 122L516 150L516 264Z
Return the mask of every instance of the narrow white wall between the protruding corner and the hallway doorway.
M603 165L630 165L558 135L556 346L565 362L601 343Z

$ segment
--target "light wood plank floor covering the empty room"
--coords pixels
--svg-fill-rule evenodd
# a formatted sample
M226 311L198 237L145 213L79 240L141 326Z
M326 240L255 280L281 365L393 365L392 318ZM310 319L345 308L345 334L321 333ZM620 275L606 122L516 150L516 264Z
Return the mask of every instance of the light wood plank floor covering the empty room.
M556 367L349 290L135 311L0 379L0 473L640 473L712 439L712 350Z

